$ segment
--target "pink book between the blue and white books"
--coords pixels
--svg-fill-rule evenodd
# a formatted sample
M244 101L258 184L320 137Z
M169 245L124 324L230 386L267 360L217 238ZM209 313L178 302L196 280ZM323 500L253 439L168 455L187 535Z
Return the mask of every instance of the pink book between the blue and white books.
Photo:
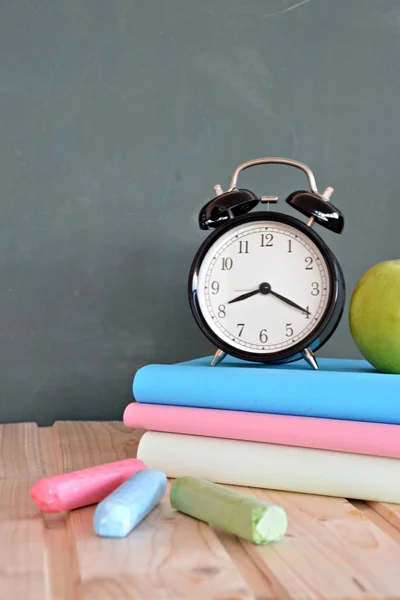
M127 427L400 458L400 425L132 402Z

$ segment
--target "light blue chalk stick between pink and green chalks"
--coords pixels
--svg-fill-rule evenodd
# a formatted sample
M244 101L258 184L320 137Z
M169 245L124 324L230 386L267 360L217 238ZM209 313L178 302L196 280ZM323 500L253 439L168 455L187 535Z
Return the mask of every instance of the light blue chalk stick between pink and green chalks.
M146 469L130 477L96 507L93 527L102 537L125 537L163 499L167 478Z

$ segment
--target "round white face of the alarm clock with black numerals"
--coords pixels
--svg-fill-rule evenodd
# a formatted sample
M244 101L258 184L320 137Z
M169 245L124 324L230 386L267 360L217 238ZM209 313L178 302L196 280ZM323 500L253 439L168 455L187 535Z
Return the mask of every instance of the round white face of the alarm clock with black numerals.
M195 285L210 329L256 354L287 350L308 337L330 298L319 248L299 229L272 220L250 221L219 237Z

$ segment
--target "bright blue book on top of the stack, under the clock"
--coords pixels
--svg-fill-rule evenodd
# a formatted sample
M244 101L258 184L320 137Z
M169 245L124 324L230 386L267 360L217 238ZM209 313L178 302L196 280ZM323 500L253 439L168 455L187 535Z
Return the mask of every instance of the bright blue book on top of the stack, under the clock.
M319 358L263 365L211 356L139 369L137 402L400 424L400 375L379 373L367 361Z

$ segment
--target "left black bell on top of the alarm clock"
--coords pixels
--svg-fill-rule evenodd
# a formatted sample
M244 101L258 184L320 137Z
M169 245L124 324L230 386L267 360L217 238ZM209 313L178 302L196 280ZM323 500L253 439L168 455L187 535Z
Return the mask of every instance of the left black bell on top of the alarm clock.
M218 195L207 202L200 211L200 229L215 229L228 219L250 212L260 202L250 190L235 189L221 193L219 186L215 186L214 189Z

